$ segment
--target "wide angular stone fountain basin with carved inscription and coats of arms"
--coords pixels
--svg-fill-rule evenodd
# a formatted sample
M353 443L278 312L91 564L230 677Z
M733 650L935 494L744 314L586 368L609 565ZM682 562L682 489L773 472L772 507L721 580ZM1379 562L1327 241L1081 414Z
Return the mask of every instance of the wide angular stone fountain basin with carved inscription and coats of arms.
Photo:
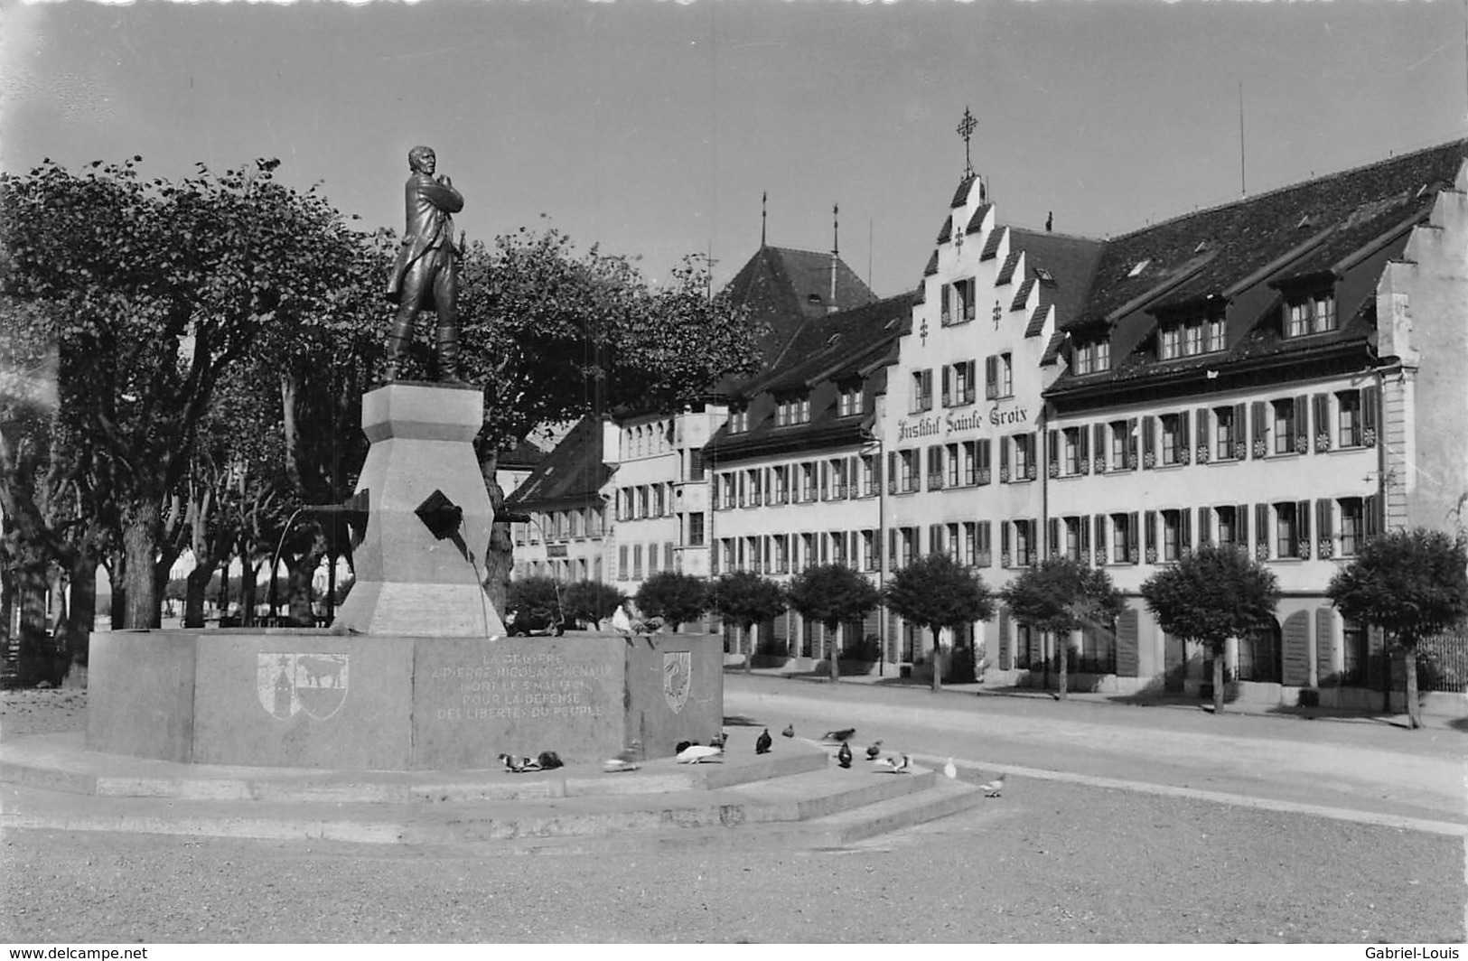
M716 635L91 635L87 748L200 764L473 770L666 757L724 722Z

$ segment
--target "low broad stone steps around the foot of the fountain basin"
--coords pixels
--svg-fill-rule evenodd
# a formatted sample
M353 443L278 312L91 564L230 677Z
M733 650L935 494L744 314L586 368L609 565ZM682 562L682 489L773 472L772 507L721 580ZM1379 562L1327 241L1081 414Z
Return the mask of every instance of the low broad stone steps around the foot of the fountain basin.
M65 737L0 745L0 827L405 844L490 854L840 845L981 797L915 766L843 770L793 741L768 756L637 772L319 772L139 761Z

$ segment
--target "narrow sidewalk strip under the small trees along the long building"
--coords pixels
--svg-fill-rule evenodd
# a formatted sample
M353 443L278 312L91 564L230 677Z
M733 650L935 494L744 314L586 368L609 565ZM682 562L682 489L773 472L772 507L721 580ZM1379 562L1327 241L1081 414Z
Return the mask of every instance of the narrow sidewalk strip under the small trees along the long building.
M741 663L725 663L725 673L746 673ZM788 666L784 668L755 668L747 672L755 676L763 678L778 678L787 681L804 681L807 684L828 684L828 678L824 672L815 670L793 670ZM913 681L912 678L898 676L897 668L888 665L884 673L873 668L871 673L857 675L843 675L840 684L851 685L873 685L882 688L920 688L928 690L931 685L926 681ZM1028 688L1028 687L1013 687L1013 685L994 685L994 684L944 684L944 693L966 694L970 697L1011 697L1025 698L1036 701L1054 701L1060 700L1060 691L1050 688ZM1189 697L1186 694L1174 693L1145 693L1145 694L1114 694L1114 693L1094 693L1094 691L1067 691L1066 698L1079 704L1105 704L1113 707L1166 707L1180 712L1201 712L1213 713L1213 701L1201 700L1198 697ZM1292 719L1292 720L1330 720L1337 723L1356 723L1356 725L1389 725L1398 728L1406 728L1406 713L1367 713L1356 710L1340 710L1331 707L1286 707L1282 704L1267 704L1261 701L1227 701L1224 704L1224 713L1230 715L1246 715L1251 717L1277 717L1277 719ZM1452 717L1445 715L1427 715L1421 717L1422 728L1431 728L1437 731L1459 731L1468 734L1468 712L1464 716Z

